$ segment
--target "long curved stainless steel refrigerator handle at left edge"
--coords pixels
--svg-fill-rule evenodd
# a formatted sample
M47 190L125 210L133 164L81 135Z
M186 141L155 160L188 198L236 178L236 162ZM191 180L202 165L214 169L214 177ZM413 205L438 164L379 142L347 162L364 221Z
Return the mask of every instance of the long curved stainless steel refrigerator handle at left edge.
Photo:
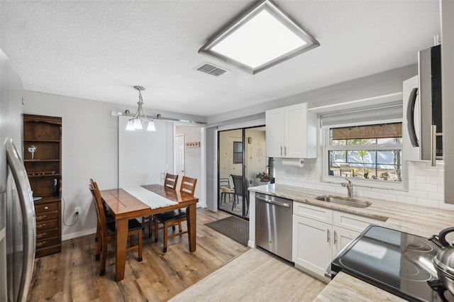
M21 202L23 223L23 266L17 301L26 301L31 285L33 261L35 259L35 206L33 205L33 195L31 192L30 182L28 181L26 168L23 166L21 155L11 138L6 140L6 158L11 172L13 173L19 201Z

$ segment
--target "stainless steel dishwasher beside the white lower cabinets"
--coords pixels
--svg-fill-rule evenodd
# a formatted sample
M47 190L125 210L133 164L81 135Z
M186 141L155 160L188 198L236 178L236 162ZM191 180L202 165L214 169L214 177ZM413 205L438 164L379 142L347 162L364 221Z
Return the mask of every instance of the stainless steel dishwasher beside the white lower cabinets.
M292 208L286 198L255 193L255 244L292 261Z

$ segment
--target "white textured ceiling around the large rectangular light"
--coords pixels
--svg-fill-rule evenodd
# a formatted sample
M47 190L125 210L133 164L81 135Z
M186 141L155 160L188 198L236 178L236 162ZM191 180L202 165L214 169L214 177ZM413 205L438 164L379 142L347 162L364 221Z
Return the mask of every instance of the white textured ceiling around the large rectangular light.
M0 1L0 48L26 90L211 116L417 62L433 1L275 1L321 46L245 72L199 55L255 1ZM224 69L213 77L204 62Z

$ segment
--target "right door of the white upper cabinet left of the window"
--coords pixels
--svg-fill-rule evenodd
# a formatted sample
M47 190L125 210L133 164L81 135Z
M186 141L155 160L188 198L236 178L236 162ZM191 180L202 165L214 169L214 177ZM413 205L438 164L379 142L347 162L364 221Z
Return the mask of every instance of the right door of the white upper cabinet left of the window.
M284 108L284 156L306 158L307 104Z

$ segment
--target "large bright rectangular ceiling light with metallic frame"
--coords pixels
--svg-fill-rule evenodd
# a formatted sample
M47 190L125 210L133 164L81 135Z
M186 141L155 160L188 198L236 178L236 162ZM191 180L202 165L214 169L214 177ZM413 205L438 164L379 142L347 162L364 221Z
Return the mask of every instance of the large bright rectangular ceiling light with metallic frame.
M256 74L319 45L267 0L240 16L201 47L199 53Z

